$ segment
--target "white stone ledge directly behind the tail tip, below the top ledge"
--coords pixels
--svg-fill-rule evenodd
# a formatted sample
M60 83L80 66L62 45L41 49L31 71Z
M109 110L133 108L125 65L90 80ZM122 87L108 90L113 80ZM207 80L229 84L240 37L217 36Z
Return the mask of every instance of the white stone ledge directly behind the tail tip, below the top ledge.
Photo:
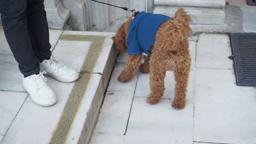
M158 5L154 9L154 13L173 17L178 8ZM223 24L225 20L225 12L222 8L184 7L184 9L188 11L193 24L217 25Z

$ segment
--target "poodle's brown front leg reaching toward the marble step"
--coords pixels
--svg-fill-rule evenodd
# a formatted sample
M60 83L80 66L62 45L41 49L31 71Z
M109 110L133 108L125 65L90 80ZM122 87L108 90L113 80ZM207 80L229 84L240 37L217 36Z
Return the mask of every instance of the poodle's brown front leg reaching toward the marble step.
M120 82L127 82L130 81L133 75L136 73L139 65L141 65L142 55L129 55L125 69L122 73L118 76L118 80Z

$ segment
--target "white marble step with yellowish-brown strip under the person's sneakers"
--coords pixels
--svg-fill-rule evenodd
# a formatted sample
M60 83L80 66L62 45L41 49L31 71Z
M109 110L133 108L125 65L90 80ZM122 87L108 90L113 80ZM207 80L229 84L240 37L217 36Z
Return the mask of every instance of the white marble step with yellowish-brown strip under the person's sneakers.
M55 32L59 34L59 31ZM58 143L58 140L61 140L59 143L88 143L115 62L116 53L112 49L113 41L111 39L113 35L114 33L64 31L61 37L57 38L53 55L68 67L79 71L80 81L63 83L46 76L48 85L53 88L58 99L58 102L50 107L36 105L30 97L26 98L27 93L21 93L24 89L21 85L18 65L13 56L3 53L0 56L0 62L2 62L0 65L4 66L0 68L0 74L2 74L2 77L0 76L0 101L3 101L2 104L0 102L0 143L40 144L50 143L50 140L53 141L52 143ZM102 47L102 49L98 47ZM94 56L96 59L90 56ZM10 79L11 76L13 79ZM14 95L13 98L5 98L5 96L9 96L8 94ZM23 94L22 97L19 97L20 94ZM68 99L70 95L71 99ZM82 95L80 97L82 99L72 100L74 95ZM68 102L73 109L67 109L68 111L65 112L68 114L65 115L62 111ZM10 105L10 103L14 105ZM3 118L1 110L4 110ZM75 111L69 112L69 110ZM72 121L72 124L63 123L62 117L70 117L73 113L76 113L75 116L68 120ZM55 128L57 127L68 128L68 133L64 134L64 130L59 130L59 133L56 134L57 129L55 130ZM53 135L56 139L51 139ZM66 135L64 140L62 139L63 135ZM1 139L3 140L1 141Z

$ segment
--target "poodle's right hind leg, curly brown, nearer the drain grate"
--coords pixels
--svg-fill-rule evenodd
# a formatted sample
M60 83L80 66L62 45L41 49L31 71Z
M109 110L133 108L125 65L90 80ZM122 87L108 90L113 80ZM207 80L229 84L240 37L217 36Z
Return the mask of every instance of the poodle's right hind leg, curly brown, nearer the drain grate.
M172 101L172 107L174 109L184 109L186 105L187 86L190 71L190 61L184 62L182 65L178 65L174 70L174 77L176 81L175 96Z

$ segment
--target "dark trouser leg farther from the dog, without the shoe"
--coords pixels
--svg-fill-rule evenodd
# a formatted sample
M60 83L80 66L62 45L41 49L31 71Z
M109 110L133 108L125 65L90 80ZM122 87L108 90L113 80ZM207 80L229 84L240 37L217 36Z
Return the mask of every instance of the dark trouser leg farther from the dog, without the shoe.
M27 1L1 0L0 14L5 37L24 76L39 74L39 62L34 55L27 32Z

